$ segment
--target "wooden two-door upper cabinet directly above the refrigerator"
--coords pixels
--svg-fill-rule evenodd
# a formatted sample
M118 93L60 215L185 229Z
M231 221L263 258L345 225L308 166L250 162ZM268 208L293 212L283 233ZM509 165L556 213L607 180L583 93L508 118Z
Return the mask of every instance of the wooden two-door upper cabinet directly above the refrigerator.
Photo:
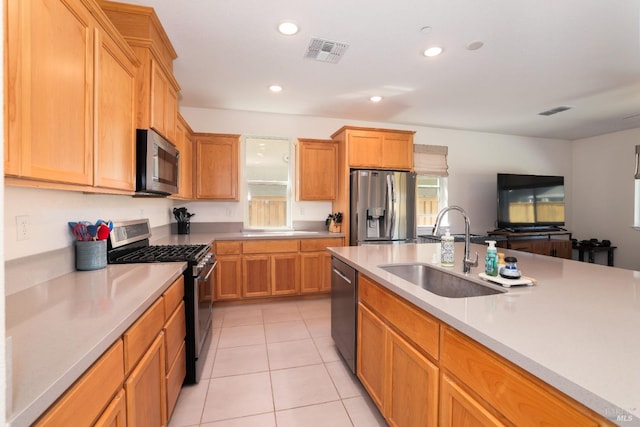
M412 170L414 133L345 126L332 139L344 144L347 167Z

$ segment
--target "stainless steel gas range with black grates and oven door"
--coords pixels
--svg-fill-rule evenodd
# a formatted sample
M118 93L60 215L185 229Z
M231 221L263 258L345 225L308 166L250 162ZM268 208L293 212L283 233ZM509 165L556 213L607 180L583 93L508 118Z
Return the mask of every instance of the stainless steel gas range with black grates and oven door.
M184 300L187 335L185 384L200 380L211 339L213 295L211 275L216 267L210 245L149 244L149 220L114 223L111 230L107 261L109 264L186 261Z

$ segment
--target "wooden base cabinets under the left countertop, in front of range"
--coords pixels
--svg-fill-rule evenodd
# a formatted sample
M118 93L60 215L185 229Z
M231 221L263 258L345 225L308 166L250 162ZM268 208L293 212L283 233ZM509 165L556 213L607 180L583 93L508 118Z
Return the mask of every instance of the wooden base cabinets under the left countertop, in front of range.
M183 296L180 276L34 425L167 425L186 375Z

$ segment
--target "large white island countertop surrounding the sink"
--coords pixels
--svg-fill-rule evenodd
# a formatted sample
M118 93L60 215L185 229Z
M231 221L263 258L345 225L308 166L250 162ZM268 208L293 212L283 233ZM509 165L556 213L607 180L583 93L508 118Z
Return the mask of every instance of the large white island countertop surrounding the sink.
M535 286L507 293L445 298L388 273L379 265L423 262L439 266L439 244L329 248L347 264L616 422L640 425L640 272L501 250L518 258ZM464 244L455 244L462 273ZM479 252L483 272L486 246ZM444 269L444 268L443 268ZM479 280L479 279L478 279ZM620 421L618 421L620 422Z

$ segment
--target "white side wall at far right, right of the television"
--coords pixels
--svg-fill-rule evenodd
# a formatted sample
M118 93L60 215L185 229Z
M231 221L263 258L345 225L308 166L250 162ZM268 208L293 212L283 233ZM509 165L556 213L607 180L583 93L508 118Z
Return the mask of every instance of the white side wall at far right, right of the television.
M637 144L640 128L572 142L571 231L579 240L611 240L616 267L632 270L640 270L640 232L632 228Z

